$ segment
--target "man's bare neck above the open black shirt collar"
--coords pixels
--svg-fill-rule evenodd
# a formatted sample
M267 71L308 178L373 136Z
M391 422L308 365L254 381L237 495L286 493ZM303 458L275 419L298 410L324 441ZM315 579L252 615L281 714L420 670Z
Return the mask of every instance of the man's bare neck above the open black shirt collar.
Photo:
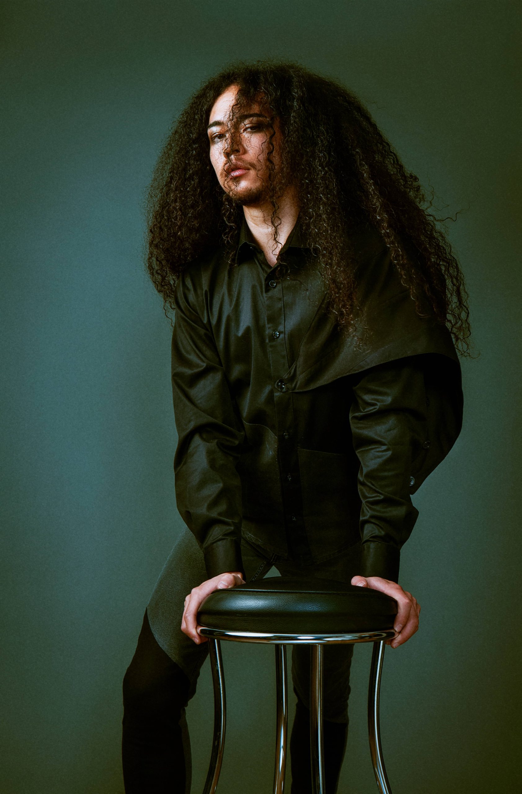
M253 239L265 254L266 260L272 267L276 264L277 255L286 242L288 235L296 225L299 215L299 202L297 201L296 189L292 186L287 187L284 194L278 199L278 215L281 219L277 227L276 242L273 238L273 225L270 220L272 215L272 205L270 202L263 202L256 205L244 206L246 223L252 232Z

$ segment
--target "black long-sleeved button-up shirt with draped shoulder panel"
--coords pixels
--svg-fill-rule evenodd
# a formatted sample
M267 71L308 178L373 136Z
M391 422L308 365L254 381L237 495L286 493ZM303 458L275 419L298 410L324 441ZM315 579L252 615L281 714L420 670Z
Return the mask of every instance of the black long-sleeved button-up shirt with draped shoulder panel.
M447 330L412 312L381 237L356 237L363 350L325 311L299 222L286 268L243 222L232 266L217 248L176 286L176 501L209 577L242 570L241 534L310 564L351 546L362 575L398 576L411 494L460 430L460 369Z

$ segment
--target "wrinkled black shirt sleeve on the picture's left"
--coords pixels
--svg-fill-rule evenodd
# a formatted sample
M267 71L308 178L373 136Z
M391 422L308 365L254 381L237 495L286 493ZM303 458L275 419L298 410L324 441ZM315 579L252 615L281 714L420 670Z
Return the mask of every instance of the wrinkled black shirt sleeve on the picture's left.
M211 327L198 307L202 299L195 283L195 276L184 274L174 300L174 472L178 510L203 550L210 579L223 572L244 575L242 491L236 472L244 430Z

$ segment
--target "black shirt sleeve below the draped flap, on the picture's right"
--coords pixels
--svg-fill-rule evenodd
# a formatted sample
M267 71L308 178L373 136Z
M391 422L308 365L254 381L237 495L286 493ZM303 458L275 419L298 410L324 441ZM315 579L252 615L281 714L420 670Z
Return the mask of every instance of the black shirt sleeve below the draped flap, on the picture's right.
M400 548L419 511L410 489L427 442L422 356L379 364L356 376L350 426L361 466L362 576L397 581Z

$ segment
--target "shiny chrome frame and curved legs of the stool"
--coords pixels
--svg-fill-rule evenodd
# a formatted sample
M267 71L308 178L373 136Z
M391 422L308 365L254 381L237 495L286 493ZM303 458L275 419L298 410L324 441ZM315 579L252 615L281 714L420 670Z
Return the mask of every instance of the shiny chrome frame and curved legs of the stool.
M379 730L379 693L386 640L395 636L392 630L352 634L269 634L253 631L227 631L202 626L201 634L210 641L212 681L214 684L214 740L211 763L203 794L215 794L221 771L226 728L226 692L223 675L221 640L234 642L267 642L276 646L276 768L273 792L284 794L286 745L288 736L287 645L311 645L311 777L314 794L324 794L323 754L323 646L344 642L373 642L368 689L368 736L373 772L380 794L392 794L382 757Z

